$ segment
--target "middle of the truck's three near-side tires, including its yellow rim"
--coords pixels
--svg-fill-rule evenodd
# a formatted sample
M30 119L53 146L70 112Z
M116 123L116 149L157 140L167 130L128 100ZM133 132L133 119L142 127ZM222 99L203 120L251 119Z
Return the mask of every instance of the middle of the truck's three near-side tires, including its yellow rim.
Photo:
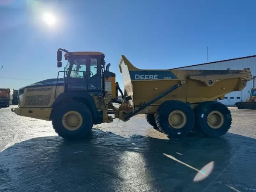
M191 107L180 101L168 101L160 105L155 120L160 131L174 138L189 134L195 122Z

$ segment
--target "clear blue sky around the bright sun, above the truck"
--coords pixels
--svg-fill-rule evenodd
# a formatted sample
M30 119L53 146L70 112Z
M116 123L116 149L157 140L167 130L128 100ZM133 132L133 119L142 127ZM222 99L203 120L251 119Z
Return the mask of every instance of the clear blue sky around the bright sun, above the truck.
M104 52L121 85L121 55L142 69L205 63L207 45L209 61L255 55L255 6L253 0L0 0L0 87L56 78L60 47ZM57 17L56 26L42 22L44 12Z

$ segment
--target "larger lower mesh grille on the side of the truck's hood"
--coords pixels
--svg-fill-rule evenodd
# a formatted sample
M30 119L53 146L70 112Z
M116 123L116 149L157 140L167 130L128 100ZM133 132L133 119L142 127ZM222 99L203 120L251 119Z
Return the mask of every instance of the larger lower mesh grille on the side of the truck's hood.
M52 95L27 95L25 106L47 106Z

